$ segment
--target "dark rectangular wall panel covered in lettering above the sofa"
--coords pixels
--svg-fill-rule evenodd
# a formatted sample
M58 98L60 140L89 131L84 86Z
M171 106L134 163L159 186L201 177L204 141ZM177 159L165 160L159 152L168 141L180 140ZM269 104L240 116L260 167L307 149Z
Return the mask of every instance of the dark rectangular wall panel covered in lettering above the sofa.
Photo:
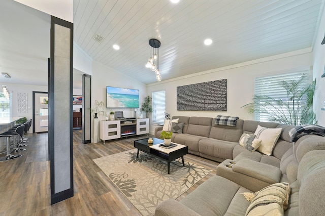
M177 87L177 110L226 111L227 79Z

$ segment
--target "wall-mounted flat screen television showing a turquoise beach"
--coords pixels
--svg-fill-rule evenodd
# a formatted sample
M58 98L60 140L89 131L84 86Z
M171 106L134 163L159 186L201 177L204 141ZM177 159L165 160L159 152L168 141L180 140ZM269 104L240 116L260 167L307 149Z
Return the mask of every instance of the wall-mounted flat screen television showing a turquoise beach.
M106 88L107 108L139 108L139 90Z

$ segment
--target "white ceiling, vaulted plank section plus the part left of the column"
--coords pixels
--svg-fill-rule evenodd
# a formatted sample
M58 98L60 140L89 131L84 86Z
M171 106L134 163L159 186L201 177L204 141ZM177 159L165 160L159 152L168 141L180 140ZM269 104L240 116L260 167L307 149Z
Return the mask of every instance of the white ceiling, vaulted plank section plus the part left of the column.
M313 46L324 0L74 0L74 42L93 60L143 83L150 38L163 80ZM49 16L0 2L0 82L47 83ZM103 39L94 40L95 35ZM48 38L47 38L48 37ZM213 40L205 46L206 38ZM118 51L112 46L119 45Z

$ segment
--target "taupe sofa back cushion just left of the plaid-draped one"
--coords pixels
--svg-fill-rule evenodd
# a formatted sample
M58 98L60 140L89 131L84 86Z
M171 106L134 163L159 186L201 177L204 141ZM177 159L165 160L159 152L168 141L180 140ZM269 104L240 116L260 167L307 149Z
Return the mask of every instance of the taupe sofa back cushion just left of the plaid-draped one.
M212 118L190 117L188 122L187 134L201 137L209 137L212 125Z

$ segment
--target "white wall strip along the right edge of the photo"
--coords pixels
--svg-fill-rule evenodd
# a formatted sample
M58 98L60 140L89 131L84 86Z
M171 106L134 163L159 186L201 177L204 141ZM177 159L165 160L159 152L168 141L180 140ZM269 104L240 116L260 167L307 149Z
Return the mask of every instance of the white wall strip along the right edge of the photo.
M313 76L316 78L316 91L314 95L314 112L318 120L317 124L325 126L325 77L321 77L325 67L325 45L321 45L325 33L325 13L323 13L318 28L317 37L313 47Z

